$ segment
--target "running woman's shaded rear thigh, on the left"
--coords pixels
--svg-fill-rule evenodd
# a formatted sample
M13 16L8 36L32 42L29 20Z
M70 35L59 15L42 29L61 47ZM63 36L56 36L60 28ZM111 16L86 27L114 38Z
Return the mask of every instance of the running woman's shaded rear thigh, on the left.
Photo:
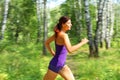
M57 77L57 73L48 69L48 71L45 74L43 80L55 80L56 77Z

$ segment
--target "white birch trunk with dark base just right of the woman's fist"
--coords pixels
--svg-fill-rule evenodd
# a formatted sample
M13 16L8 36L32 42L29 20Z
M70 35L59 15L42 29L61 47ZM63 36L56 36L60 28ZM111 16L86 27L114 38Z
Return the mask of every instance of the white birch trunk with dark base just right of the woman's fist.
M90 19L90 12L89 12L89 0L84 0L84 8L85 8L85 19L86 19L86 26L87 26L87 34L89 39L89 57L94 56L94 44L93 44L93 37L92 37L92 25Z

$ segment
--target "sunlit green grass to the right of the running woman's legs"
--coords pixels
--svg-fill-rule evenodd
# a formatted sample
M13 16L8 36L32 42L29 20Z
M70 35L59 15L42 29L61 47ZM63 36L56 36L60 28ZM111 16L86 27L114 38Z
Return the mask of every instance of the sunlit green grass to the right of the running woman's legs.
M87 58L85 53L77 54L72 56L68 64L76 80L119 80L119 53L118 49L104 50L100 52L99 58Z

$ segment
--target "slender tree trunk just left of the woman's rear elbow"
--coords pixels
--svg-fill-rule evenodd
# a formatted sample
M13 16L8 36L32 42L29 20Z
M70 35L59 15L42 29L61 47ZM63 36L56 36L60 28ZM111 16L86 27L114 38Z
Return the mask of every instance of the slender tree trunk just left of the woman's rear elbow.
M43 55L47 54L46 47L45 47L45 41L47 38L47 15L46 15L46 3L47 0L44 0L44 14L43 14L43 27L44 27L44 33L43 33Z

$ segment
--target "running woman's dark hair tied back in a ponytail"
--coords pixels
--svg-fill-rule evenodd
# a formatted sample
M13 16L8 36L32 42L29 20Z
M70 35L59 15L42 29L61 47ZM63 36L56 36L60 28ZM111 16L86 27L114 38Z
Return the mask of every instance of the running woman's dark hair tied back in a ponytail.
M68 20L70 20L70 18L69 17L67 17L67 16L62 16L62 17L60 17L60 19L59 19L59 22L57 23L57 25L55 26L55 37L57 37L57 33L59 32L59 31L61 31L61 29L62 29L62 24L64 24L64 23L66 23Z

